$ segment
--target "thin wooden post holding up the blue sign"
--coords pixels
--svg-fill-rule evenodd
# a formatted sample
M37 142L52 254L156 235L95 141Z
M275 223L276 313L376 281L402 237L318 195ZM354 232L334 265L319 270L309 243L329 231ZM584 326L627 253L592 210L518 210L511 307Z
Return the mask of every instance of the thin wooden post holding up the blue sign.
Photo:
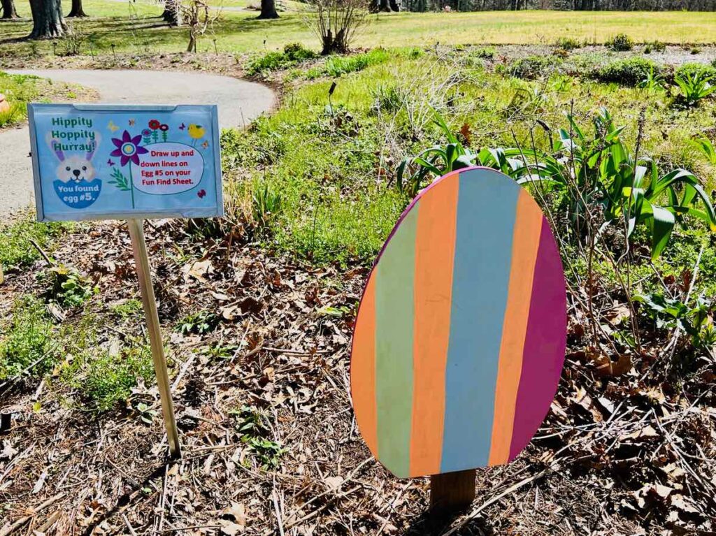
M137 278L139 278L142 304L147 318L147 330L149 331L149 341L152 346L152 360L154 361L154 371L157 375L159 396L162 401L162 414L164 416L164 426L167 429L169 452L176 459L181 457L181 447L174 416L169 374L167 373L167 360L164 356L162 332L159 327L157 302L154 297L154 287L152 286L152 272L147 255L147 243L144 240L144 222L143 220L127 220L127 225L130 228L132 251L137 265Z

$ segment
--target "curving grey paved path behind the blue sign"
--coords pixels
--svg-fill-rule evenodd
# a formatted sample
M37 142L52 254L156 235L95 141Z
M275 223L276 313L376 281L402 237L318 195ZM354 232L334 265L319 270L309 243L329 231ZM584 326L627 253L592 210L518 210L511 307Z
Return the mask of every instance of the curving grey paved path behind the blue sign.
M266 86L216 74L172 71L21 70L92 87L112 104L218 104L222 128L243 127L276 104ZM34 203L27 127L0 132L0 220Z

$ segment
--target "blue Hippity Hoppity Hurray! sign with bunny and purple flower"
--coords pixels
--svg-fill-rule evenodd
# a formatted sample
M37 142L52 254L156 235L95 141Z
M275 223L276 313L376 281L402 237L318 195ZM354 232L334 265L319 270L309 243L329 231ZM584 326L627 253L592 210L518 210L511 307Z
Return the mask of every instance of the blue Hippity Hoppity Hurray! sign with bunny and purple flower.
M215 105L29 104L39 221L223 216Z

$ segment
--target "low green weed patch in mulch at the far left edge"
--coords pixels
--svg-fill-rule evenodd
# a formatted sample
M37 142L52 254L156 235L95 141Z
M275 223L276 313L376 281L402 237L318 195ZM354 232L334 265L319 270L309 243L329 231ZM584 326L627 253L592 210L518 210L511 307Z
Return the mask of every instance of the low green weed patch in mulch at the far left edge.
M0 324L0 380L26 372L42 376L57 360L57 344L52 340L52 321L44 304L24 296L12 306L9 324Z

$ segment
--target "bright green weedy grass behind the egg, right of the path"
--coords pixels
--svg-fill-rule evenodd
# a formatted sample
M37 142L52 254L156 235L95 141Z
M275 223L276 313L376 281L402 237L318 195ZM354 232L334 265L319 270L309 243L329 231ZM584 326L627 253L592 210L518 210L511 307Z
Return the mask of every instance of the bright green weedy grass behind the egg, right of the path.
M716 185L714 168L692 141L712 127L714 99L694 114L674 108L667 92L601 83L590 78L590 69L584 78L543 70L541 79L529 81L495 74L461 52L440 58L405 50L382 54L388 58L337 78L330 101L332 78L298 82L280 109L254 122L248 135L225 133L230 203L273 200L270 218L254 214L271 247L315 263L372 262L407 203L387 180L403 155L440 137L431 109L448 117L455 132L464 127L477 150L513 146L514 138L528 146L533 118L561 127L573 100L581 125L591 124L597 107L608 107L617 124L627 125L633 147L644 108L642 150L664 167L694 170L707 188ZM571 61L598 64L590 58ZM544 145L542 130L535 135Z

